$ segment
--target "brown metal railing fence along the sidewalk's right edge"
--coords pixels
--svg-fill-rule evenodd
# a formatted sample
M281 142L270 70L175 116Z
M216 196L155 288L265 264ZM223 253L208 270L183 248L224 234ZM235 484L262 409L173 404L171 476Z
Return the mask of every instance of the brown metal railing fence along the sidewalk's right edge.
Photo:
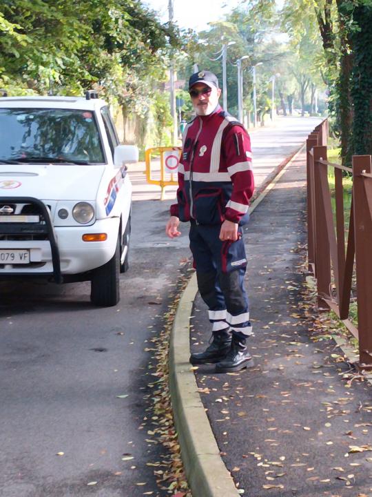
M359 367L372 369L371 155L354 155L352 168L328 162L327 136L326 119L307 139L309 272L316 278L318 308L332 309L338 315L358 338ZM334 211L329 167L335 177ZM349 212L345 212L343 171L353 180ZM345 226L345 214L349 226ZM351 298L358 307L358 324L349 315Z

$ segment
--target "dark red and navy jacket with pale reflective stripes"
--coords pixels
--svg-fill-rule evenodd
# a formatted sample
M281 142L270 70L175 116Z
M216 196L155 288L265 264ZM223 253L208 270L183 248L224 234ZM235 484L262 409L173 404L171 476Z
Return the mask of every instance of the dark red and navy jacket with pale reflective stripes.
M243 224L253 193L245 128L220 106L210 115L196 116L183 134L177 204L171 206L171 215L198 224Z

